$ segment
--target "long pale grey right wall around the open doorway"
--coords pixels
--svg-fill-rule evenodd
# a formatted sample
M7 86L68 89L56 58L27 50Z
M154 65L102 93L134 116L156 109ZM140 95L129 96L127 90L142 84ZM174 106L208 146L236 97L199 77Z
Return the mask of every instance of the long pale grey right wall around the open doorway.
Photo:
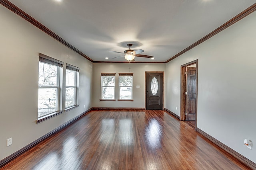
M256 163L256 147L243 144L256 144L255 18L256 12L166 64L166 108L180 115L180 66L198 59L197 127Z

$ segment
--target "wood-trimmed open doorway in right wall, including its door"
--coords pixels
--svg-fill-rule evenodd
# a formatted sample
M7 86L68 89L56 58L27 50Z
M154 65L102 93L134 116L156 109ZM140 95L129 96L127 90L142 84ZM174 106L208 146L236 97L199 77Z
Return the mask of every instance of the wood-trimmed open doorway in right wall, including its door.
M181 66L180 120L196 129L198 60Z

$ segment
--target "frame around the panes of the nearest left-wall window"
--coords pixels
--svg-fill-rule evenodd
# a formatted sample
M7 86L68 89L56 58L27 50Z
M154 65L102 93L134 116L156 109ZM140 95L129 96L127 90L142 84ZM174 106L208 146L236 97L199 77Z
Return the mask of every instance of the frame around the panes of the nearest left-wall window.
M52 111L50 113L47 113L45 115L38 116L38 111L37 111L37 120L36 123L40 123L41 121L44 121L46 119L49 119L51 117L54 117L56 115L59 115L63 113L63 110L61 109L61 103L62 103L62 98L61 98L61 84L60 84L60 79L61 79L61 72L62 72L62 67L63 67L63 62L56 60L52 57L49 57L47 55L39 53L39 62L38 62L38 80L39 80L39 63L45 63L45 64L50 64L57 66L57 81L56 81L56 86L50 86L50 85L39 85L38 83L38 92L39 89L50 89L50 88L56 88L57 89L57 94L56 94L56 103L57 107L55 111ZM38 94L38 101L39 101L39 94Z

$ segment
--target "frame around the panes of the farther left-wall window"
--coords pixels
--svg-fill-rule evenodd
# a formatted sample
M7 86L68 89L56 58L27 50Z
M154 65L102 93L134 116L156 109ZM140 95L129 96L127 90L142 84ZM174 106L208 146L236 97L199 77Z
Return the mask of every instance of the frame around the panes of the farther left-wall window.
M79 69L76 66L73 66L71 64L66 63L66 75L68 70L72 70L75 72L75 80L74 80L74 86L67 86L66 82L65 82L65 112L69 111L71 109L74 109L76 107L78 107L78 84L79 84ZM67 80L67 76L66 76L66 80ZM75 88L75 92L74 92L74 104L70 105L70 106L66 106L66 88Z

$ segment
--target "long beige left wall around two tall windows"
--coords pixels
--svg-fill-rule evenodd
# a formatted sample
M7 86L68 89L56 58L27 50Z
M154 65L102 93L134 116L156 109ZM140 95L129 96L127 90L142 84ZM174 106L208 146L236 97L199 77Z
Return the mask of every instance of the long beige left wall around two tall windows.
M92 63L2 5L0 5L0 23L0 160L2 160L92 107ZM80 68L80 106L36 124L38 53ZM12 137L12 145L6 147L6 140L10 137Z

